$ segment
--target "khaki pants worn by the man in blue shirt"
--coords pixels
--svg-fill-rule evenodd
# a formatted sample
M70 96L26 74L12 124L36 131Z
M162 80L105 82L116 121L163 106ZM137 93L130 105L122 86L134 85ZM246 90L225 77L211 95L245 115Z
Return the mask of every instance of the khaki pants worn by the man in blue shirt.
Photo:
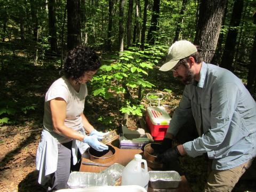
M252 161L253 159L229 170L211 170L204 191L231 191L241 176L251 166Z

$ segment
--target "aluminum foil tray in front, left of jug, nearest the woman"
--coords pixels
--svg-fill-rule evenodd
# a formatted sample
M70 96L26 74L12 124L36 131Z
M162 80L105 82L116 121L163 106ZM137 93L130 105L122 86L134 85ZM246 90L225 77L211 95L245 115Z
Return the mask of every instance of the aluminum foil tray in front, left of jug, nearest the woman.
M86 188L91 186L114 186L115 179L105 173L71 172L68 178L69 188Z

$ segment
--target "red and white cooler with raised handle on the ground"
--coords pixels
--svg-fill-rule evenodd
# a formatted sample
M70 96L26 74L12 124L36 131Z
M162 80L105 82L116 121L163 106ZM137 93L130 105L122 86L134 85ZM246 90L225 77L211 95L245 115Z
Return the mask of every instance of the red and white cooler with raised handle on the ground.
M150 95L158 96L158 98L150 97ZM146 110L146 124L150 130L154 140L159 141L164 139L164 135L169 127L171 117L163 106L160 106L160 100L163 99L162 93L148 93L147 99L150 101L150 106ZM157 100L158 106L152 107L151 101Z

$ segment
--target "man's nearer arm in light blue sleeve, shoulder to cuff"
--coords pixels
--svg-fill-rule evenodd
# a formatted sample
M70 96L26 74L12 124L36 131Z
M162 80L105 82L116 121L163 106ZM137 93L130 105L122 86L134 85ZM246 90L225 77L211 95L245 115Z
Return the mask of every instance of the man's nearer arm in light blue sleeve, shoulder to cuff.
M201 137L183 144L191 157L214 151L225 140L231 118L237 106L238 87L233 82L219 83L213 86L211 98L210 129Z

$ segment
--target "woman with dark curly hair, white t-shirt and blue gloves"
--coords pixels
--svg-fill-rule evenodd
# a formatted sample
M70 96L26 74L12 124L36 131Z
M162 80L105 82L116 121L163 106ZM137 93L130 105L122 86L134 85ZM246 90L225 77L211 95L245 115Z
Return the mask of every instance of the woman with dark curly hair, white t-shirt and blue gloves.
M108 149L99 141L104 133L96 131L83 114L86 83L99 67L99 58L90 47L77 46L68 52L65 75L46 92L36 169L40 184L50 181L48 191L67 188L70 171L78 171L81 154L89 146L98 151Z

